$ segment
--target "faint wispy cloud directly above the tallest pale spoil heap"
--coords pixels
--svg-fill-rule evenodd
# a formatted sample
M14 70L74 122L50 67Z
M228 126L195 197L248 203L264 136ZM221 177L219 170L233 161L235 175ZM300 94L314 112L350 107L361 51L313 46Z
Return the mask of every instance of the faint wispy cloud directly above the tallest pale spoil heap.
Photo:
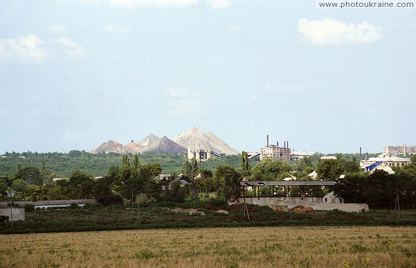
M205 113L211 105L207 100L200 97L198 91L191 91L187 87L168 87L166 94L171 97L168 105L175 116L187 116Z

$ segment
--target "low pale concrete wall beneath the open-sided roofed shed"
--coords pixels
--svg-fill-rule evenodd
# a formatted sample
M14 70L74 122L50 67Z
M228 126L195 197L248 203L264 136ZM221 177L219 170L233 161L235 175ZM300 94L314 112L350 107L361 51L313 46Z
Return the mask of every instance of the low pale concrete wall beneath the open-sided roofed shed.
M241 197L237 202L243 204L244 199ZM275 211L286 211L300 205L310 206L315 211L332 211L334 209L345 212L368 211L367 204L324 203L322 197L245 197L245 202L258 206L269 206ZM229 202L229 204L235 203Z

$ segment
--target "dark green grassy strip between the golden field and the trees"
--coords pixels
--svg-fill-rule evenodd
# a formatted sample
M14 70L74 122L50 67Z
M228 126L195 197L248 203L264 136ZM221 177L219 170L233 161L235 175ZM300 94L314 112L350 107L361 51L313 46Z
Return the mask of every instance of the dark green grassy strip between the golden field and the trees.
M28 211L26 220L0 222L0 234L59 233L77 231L117 231L135 229L176 229L209 227L261 227L261 226L416 226L416 211L401 211L401 218L388 210L369 213L320 211L315 214L294 214L272 211L267 206L248 206L250 220L244 216L243 206L216 204L228 214L217 213L207 204L164 203L149 204L140 208L140 223L135 206L85 206ZM212 205L214 206L214 205ZM177 208L198 209L204 215L178 213Z

